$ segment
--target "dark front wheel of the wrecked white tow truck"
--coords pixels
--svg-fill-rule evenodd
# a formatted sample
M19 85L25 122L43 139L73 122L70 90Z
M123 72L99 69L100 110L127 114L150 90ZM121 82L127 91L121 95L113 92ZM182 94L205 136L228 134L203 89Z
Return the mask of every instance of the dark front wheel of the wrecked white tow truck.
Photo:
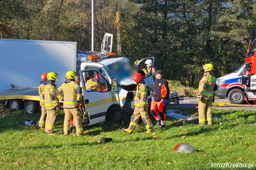
M128 122L127 113L120 107L112 107L108 113L108 120L125 124Z

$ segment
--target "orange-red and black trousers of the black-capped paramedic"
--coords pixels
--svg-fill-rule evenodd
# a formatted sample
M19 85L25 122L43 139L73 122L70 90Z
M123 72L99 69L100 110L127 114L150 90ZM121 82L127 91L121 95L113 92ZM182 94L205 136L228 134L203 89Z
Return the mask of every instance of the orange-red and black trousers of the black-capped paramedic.
M154 99L152 100L151 107L150 107L150 113L156 120L161 121L161 125L166 124L166 115L163 113L163 99L160 101L156 102ZM157 113L157 108L159 110L159 114Z

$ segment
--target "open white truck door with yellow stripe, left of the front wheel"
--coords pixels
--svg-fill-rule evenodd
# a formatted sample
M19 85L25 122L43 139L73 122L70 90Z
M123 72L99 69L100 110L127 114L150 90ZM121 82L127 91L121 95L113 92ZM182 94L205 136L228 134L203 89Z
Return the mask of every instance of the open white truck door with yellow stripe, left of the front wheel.
M89 73L90 72L90 73ZM93 73L92 73L93 72ZM90 124L105 121L106 111L113 104L111 86L106 78L96 69L80 71L85 111L89 114ZM93 77L88 79L88 77ZM96 78L97 77L97 78Z

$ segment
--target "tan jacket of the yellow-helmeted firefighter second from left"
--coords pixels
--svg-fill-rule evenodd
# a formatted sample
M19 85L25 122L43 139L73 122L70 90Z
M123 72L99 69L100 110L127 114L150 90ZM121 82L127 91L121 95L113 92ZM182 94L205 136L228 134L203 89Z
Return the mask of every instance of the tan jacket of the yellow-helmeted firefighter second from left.
M53 82L44 86L44 103L46 110L52 110L55 107L60 107L59 100L55 95L56 90L57 88Z

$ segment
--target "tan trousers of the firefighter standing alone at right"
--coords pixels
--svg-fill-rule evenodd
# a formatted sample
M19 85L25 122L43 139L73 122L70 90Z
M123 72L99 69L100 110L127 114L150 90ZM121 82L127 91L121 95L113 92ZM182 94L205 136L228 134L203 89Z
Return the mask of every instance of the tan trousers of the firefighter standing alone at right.
M212 124L212 100L201 99L198 103L199 125L204 125L207 120L208 125Z

